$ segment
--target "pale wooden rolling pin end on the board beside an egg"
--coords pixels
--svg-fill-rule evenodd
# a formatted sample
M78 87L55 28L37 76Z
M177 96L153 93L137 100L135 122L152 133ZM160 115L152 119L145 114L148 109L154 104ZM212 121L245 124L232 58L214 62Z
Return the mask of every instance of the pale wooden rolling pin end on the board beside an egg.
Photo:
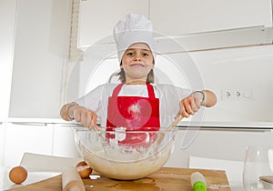
M62 186L64 191L85 191L86 186L79 176L76 167L66 167L62 173Z

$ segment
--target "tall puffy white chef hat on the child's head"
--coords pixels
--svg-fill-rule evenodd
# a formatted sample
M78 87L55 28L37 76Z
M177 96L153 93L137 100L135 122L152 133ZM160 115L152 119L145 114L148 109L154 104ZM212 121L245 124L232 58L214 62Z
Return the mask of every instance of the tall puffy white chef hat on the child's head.
M126 49L135 43L146 43L156 59L153 25L144 15L129 14L114 27L118 61L121 63Z

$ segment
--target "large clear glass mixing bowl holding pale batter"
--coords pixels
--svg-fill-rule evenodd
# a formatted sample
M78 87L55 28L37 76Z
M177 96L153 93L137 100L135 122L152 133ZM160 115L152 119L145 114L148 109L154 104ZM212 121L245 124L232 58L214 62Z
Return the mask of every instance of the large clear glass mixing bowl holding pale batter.
M150 129L152 130L152 128ZM120 180L138 179L156 172L171 155L177 129L159 131L90 131L85 127L74 129L76 148L102 176Z

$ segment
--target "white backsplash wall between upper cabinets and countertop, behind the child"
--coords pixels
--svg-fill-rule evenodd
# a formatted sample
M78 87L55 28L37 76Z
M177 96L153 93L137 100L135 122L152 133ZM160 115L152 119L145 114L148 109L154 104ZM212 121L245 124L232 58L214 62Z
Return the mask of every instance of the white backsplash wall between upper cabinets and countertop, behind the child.
M90 49L86 50L86 55L70 75L68 92L78 91L74 97L67 94L71 100L85 95L96 85L106 83L109 76L118 71L115 55L94 61L97 54L92 47ZM207 126L215 126L216 122L220 122L217 126L263 126L262 123L272 126L272 63L273 45L158 55L156 83L214 91L217 106L205 109L203 120ZM78 85L72 80L75 75L80 78Z

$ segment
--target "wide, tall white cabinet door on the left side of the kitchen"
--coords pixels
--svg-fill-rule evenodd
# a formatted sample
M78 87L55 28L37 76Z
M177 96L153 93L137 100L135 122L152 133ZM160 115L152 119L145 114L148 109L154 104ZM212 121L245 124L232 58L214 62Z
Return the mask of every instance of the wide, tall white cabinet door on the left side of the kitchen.
M71 1L17 1L9 116L59 117L70 19Z

